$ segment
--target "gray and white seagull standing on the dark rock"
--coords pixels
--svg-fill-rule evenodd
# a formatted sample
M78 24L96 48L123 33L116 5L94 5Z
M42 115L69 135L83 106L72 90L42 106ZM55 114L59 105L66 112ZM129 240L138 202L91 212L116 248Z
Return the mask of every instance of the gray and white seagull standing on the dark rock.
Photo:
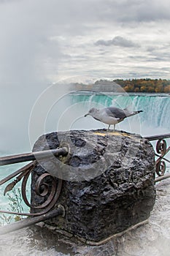
M138 111L131 111L128 110L128 108L120 109L115 107L109 107L109 108L91 108L85 116L92 116L97 121L101 121L104 124L109 124L109 127L111 124L114 124L114 132L115 132L115 125L120 123L120 121L123 121L126 117L134 116L140 112L143 112L142 110ZM109 131L109 127L107 131Z

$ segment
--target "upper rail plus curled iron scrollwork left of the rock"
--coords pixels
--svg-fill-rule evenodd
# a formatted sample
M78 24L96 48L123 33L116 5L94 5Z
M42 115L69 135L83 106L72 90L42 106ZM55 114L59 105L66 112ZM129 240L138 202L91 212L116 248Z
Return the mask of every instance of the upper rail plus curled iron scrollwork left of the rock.
M2 184L5 184L7 181L11 180L12 178L15 178L11 183L7 185L4 189L4 195L6 195L7 192L11 191L16 184L18 184L19 181L22 180L21 184L21 195L23 197L23 201L26 203L26 206L31 208L31 213L20 213L20 212L14 212L14 211L0 211L0 213L4 214L17 214L22 216L42 216L44 214L47 214L48 211L50 211L53 206L55 206L55 203L58 200L58 197L61 192L62 187L62 180L59 178L55 178L54 176L50 175L50 173L43 173L39 176L36 180L35 184L35 192L37 195L40 195L45 198L45 202L42 203L42 205L39 206L31 206L31 203L28 202L28 198L26 195L26 187L28 182L28 177L31 174L31 171L36 167L37 160L41 159L49 159L50 157L66 157L68 154L69 149L66 147L63 148L55 148L52 150L47 151L35 151L32 153L26 153L26 154L17 154L9 157L0 157L0 166L2 165L11 165L18 162L30 162L28 165L21 167L19 170L15 171L14 173L10 174L6 178L3 178L0 181L0 186ZM36 210L39 210L38 212ZM35 211L35 212L34 212Z

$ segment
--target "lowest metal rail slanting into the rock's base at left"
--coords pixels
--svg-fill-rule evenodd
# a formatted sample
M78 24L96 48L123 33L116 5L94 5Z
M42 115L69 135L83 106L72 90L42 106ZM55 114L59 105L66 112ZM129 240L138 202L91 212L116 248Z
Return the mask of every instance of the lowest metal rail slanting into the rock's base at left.
M39 217L31 217L27 219L20 220L19 222L13 222L12 224L0 227L0 236L10 233L12 231L20 230L23 227L28 227L34 225L38 222L45 221L56 216L61 216L64 214L63 207L58 207L57 209L48 212L47 214L40 215Z

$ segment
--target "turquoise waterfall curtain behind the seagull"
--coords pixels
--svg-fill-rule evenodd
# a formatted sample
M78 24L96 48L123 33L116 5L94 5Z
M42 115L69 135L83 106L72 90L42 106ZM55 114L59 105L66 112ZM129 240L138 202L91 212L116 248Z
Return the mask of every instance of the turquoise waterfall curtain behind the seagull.
M109 106L143 110L142 113L136 116L125 118L124 121L116 125L116 129L136 132L142 136L169 133L170 96L168 94L98 94L94 92L83 94L77 92L72 97L72 104L80 105L80 109L84 113L93 107L104 108ZM81 118L79 124L74 125L74 128L97 129L107 127L107 125L91 117L87 119L83 120ZM83 126L81 125L82 122Z

